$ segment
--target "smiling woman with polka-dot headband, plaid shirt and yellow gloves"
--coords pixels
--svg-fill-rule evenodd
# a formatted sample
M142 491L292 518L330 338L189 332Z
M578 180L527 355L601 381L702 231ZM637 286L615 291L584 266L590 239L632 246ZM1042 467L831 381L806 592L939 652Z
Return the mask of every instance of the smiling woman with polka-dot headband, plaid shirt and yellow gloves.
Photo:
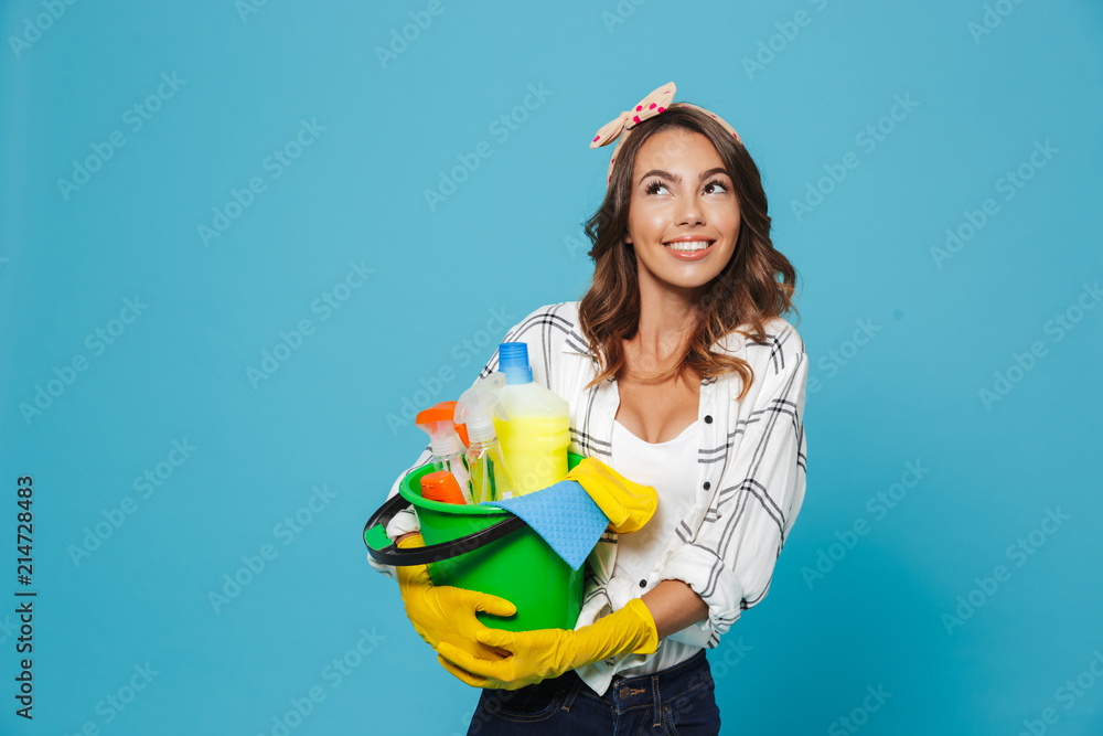
M469 733L718 733L704 649L765 596L803 502L807 356L781 318L795 271L771 244L739 136L672 103L674 90L660 87L591 142L619 139L587 223L587 294L505 337L528 343L534 380L568 401L570 449L653 486L658 512L598 543L575 631L482 627L476 609L511 605L429 591L427 575L415 593L405 573L419 633L445 669L484 689ZM480 377L496 365L495 352Z

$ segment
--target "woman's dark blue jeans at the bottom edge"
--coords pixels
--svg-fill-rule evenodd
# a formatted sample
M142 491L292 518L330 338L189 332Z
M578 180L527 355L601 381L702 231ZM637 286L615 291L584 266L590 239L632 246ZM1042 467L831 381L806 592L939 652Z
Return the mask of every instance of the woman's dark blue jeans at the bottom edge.
M655 674L614 676L604 695L568 672L521 690L483 690L468 736L715 736L720 733L720 710L713 690L704 650Z

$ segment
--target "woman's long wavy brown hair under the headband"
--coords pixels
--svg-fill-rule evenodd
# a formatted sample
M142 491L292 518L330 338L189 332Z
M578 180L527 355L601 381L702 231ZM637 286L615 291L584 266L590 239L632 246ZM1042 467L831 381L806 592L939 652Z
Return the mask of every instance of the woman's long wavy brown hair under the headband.
M632 128L632 135L618 153L606 199L585 223L586 235L593 246L587 254L593 259L593 280L579 303L578 316L582 333L593 349L590 358L597 374L586 387L617 375L624 367L621 341L631 340L639 328L635 250L624 243L632 173L640 147L656 132L671 128L702 134L713 143L735 185L741 222L731 259L694 303L693 326L679 360L670 370L644 377L661 381L674 374L683 377L692 371L705 378L735 371L743 384L737 401L742 401L754 372L747 361L714 352L711 346L732 332L765 342L765 322L796 311L793 306L796 270L770 241L765 192L747 149L708 113L679 107L677 103ZM676 156L677 151L668 153ZM741 329L745 327L749 329Z

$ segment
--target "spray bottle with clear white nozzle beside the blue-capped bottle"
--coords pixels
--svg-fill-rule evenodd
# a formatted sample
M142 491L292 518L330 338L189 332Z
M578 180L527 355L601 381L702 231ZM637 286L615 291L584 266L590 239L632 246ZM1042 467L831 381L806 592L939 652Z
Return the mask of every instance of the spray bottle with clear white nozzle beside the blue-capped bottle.
M508 420L502 408L505 375L491 373L460 395L456 419L468 428L468 451L463 459L471 473L471 500L474 503L513 498L516 490L508 463L494 433L494 417Z

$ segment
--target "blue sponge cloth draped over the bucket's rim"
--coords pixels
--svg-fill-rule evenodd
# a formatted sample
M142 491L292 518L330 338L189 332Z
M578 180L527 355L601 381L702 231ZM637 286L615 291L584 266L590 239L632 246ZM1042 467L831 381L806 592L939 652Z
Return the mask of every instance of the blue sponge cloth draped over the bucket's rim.
M521 516L576 570L609 526L609 519L575 480L560 480L535 493L480 505L501 506Z

